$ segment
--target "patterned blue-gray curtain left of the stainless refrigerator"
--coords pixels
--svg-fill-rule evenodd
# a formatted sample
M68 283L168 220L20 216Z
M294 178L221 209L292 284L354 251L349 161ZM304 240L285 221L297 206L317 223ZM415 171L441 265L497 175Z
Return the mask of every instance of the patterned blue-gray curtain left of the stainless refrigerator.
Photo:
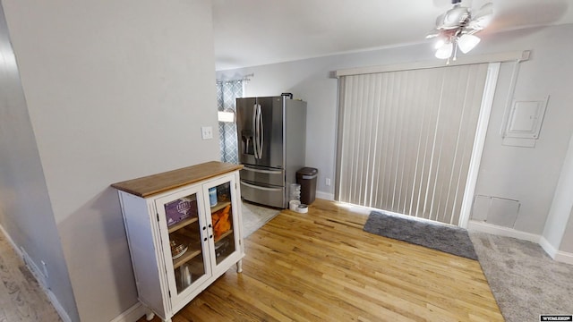
M244 80L218 80L217 102L218 112L233 112L236 114L235 98L243 97ZM221 149L221 161L239 163L238 142L236 139L236 123L219 122L218 136Z

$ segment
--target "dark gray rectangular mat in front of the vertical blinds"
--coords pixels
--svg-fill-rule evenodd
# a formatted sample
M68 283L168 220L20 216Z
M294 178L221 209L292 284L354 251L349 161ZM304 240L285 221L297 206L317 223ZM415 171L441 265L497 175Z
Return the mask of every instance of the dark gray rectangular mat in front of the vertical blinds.
M372 211L363 230L464 258L477 259L474 245L463 228L426 223Z

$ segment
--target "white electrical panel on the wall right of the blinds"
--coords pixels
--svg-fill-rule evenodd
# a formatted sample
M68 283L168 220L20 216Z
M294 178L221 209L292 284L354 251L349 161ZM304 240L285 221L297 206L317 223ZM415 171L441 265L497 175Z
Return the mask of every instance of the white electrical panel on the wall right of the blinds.
M534 148L539 139L549 96L542 100L514 100L503 125L503 145Z

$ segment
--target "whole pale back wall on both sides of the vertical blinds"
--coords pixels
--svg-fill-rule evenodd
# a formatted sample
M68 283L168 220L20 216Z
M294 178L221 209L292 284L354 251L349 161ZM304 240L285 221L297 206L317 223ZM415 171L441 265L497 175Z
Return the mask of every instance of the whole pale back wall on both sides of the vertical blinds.
M544 29L517 30L482 35L483 41L471 55L514 50L532 50L529 61L521 64L516 96L538 99L550 95L541 136L535 148L501 146L500 123L508 95L508 81L501 81L492 110L476 194L517 199L521 208L515 228L541 234L551 206L560 167L573 131L573 64L570 53L573 25ZM435 60L430 42L348 55L307 59L283 64L218 71L218 78L254 73L246 86L246 96L278 95L290 91L308 101L306 164L319 169L318 190L332 194L325 178L335 177L337 80L330 72L383 64ZM507 71L505 79L508 80ZM510 71L509 71L510 72ZM541 171L543 169L543 171Z

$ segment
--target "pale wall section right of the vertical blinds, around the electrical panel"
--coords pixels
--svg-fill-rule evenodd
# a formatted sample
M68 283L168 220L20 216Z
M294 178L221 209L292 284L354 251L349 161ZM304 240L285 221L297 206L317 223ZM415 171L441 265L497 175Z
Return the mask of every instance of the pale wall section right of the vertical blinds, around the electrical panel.
M543 233L573 131L569 103L573 100L573 64L569 61L573 43L562 41L572 37L573 25L564 25L506 33L488 44L492 51L532 49L530 61L520 65L514 97L550 96L535 148L501 145L499 132L504 110L500 107L507 97L496 94L494 100L476 194L518 200L521 205L512 227L518 231Z

